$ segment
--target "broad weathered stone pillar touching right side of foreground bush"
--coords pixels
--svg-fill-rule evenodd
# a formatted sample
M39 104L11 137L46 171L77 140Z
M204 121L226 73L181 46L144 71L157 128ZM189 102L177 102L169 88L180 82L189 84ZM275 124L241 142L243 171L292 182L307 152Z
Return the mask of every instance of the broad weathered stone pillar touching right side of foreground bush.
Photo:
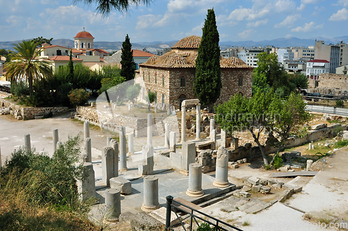
M77 180L77 190L80 194L81 200L87 200L88 198L95 197L95 173L93 170L93 164L85 162L83 171L88 175L84 180Z

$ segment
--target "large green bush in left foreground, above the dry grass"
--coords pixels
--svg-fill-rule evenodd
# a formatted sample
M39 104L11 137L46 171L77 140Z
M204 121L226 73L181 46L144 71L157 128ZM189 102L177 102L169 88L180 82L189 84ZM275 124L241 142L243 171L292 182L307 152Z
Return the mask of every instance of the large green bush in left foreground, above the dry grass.
M75 166L81 154L80 141L79 136L69 137L52 157L35 150L15 150L0 172L0 194L15 191L25 202L65 210L86 209L79 202L76 182L86 177L82 165Z

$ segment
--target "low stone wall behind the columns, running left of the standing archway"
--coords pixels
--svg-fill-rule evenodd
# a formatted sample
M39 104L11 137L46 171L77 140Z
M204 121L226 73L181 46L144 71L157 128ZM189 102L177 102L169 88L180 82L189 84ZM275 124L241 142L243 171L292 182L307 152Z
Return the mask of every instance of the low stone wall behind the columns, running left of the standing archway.
M111 114L108 110L97 110L93 106L77 106L75 118L97 125L111 132L118 132L121 126L133 129L136 137L148 135L148 118L136 118ZM169 124L172 132L179 134L179 122L176 116L152 117L152 136L164 136L164 125Z

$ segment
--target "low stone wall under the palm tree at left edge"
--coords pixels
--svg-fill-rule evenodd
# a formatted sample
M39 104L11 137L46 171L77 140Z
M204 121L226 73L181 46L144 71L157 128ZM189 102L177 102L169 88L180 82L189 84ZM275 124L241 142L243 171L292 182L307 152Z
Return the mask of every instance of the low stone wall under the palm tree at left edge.
M10 109L10 114L15 116L17 120L33 120L38 116L55 116L60 113L68 112L68 107L26 107L17 105L9 99L0 99L0 107Z

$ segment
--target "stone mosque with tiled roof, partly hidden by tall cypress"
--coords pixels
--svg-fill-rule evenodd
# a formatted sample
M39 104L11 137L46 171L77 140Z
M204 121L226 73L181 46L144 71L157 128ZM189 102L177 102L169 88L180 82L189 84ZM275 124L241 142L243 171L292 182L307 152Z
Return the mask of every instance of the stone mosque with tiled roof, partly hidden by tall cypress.
M157 94L155 102L171 104L180 108L184 99L194 99L193 79L196 76L196 58L201 38L191 35L177 42L171 51L152 56L147 62L139 65L136 70L136 83L141 83L139 98L145 101L145 96L151 90ZM242 93L251 97L253 86L253 67L246 65L239 58L220 58L221 95L216 104L230 99L232 95Z

